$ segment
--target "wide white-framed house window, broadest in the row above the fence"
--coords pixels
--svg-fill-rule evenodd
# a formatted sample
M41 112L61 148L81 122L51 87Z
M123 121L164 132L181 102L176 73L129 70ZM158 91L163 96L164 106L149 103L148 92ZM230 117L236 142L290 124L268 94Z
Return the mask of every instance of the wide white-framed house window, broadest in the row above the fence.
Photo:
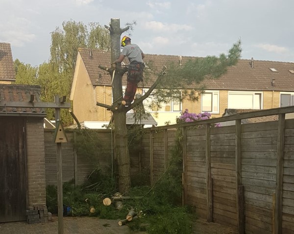
M229 92L228 108L230 109L262 109L261 92Z

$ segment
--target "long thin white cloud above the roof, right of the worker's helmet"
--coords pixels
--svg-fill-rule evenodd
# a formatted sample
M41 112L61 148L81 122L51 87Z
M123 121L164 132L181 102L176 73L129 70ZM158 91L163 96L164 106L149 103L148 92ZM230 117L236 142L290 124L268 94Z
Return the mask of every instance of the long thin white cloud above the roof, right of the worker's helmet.
M189 25L177 25L177 24L164 24L158 21L149 21L146 22L144 27L152 31L164 31L164 32L177 32L180 30L190 31L192 26Z

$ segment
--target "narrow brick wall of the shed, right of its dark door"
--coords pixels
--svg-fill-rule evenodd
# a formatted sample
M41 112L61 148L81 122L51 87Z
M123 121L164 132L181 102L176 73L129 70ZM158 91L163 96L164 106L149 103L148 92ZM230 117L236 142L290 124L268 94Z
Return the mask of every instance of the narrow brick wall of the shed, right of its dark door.
M28 206L46 205L45 147L43 118L28 118L26 123L26 170Z

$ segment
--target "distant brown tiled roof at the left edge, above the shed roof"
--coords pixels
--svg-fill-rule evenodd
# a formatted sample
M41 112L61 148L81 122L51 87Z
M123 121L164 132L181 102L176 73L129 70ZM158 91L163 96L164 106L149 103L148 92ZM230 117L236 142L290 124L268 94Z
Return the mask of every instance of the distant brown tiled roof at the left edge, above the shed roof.
M15 70L9 43L0 43L0 80L15 81Z

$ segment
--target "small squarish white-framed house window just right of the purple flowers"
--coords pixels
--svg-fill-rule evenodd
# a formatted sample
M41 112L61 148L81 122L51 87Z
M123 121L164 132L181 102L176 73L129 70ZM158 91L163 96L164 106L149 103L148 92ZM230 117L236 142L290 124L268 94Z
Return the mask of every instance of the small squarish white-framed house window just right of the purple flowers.
M201 97L201 111L219 113L219 91L205 91Z

